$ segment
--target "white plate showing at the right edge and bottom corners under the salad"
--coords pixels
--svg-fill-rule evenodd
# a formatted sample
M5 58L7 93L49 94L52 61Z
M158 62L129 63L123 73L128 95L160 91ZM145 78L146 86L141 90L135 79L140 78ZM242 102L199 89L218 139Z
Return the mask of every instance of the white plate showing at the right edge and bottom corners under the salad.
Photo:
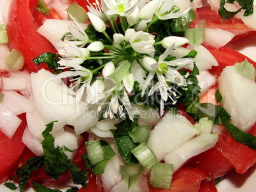
M237 50L252 60L256 61L256 34L248 38L230 43L230 48ZM225 178L217 184L218 192L255 192L256 191L256 164L245 174L238 174L235 171L230 172ZM12 190L0 185L1 192L12 192ZM65 190L63 190L65 191ZM28 189L25 192L34 192Z

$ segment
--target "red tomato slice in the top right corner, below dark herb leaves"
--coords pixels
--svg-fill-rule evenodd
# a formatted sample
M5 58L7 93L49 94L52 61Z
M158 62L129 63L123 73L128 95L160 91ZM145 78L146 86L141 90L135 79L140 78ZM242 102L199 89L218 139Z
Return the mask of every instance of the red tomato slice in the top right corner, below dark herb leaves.
M205 20L206 27L218 28L232 32L235 34L232 41L256 33L255 31L252 31L246 27L242 20L238 18L231 18L231 20L224 19L216 11L212 11L210 7L206 6L197 8L196 19L192 22L191 27L194 27L197 20Z

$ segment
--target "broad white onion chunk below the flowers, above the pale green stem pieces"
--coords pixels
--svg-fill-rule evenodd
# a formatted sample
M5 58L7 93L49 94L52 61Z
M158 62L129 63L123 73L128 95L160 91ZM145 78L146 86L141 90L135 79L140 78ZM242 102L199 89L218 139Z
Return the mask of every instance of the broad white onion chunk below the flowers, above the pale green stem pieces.
M180 147L199 133L192 123L179 114L167 113L150 132L148 147L160 161L176 147Z

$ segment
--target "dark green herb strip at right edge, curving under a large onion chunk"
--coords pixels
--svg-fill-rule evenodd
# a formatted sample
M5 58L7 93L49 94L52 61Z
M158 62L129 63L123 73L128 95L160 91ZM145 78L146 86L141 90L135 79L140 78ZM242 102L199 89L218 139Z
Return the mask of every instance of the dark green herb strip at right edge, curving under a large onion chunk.
M225 111L224 108L220 109L220 118L222 118L227 132L229 132L229 134L236 139L236 141L240 142L241 144L245 144L252 149L256 149L256 137L251 134L247 134L246 132L243 132L239 130L239 128L232 125L230 122L231 116L227 113L227 111Z

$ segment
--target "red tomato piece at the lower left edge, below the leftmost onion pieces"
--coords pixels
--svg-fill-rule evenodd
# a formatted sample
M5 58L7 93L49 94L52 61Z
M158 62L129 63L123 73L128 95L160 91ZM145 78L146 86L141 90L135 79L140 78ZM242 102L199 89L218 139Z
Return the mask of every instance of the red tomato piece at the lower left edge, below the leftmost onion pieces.
M18 116L22 123L10 139L0 132L0 183L6 181L17 168L17 161L24 151L25 144L22 142L22 135L27 126L25 113Z

